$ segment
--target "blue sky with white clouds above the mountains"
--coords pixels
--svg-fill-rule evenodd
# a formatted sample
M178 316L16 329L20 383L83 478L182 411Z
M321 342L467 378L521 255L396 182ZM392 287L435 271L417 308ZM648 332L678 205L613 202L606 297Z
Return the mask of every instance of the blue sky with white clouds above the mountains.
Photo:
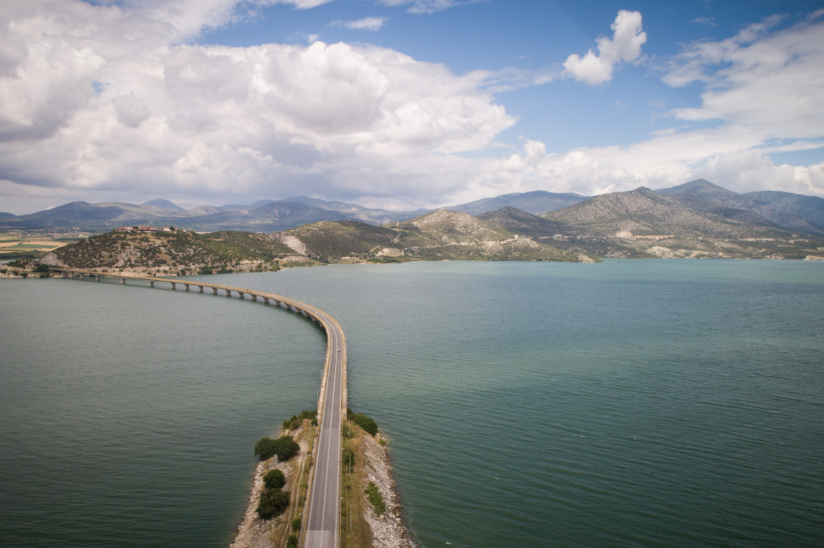
M0 211L824 197L824 0L0 2Z

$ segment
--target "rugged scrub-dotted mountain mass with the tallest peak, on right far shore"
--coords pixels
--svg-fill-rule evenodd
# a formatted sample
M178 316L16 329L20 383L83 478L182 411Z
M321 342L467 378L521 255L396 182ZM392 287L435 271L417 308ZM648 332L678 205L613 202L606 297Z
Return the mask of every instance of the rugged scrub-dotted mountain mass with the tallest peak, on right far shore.
M722 198L734 193L695 183L673 193L641 187L602 194L542 217L571 229L553 244L598 256L824 258L821 238L798 237L753 211L729 207Z

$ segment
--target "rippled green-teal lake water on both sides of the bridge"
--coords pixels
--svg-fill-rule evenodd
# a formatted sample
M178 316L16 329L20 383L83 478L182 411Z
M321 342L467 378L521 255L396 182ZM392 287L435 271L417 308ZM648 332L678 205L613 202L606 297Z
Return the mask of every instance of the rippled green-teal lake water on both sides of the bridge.
M330 311L421 546L822 546L824 264L208 276ZM227 546L324 338L225 296L0 283L0 538Z

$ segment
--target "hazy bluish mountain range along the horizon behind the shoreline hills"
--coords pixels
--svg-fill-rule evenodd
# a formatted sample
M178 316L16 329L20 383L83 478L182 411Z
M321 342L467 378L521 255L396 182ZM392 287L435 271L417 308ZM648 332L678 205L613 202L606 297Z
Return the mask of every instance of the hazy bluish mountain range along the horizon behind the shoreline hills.
M546 216L565 225L580 225L579 228L586 228L584 231L591 235L602 235L604 230L609 232L612 229L615 232L628 230L639 235L645 235L649 230L660 232L665 228L660 225L664 219L677 223L677 226L667 225L667 230L691 230L691 234L697 234L711 225L715 233L740 235L744 225L752 225L824 235L822 197L775 191L739 194L704 179L655 191L639 188L630 193L608 193L595 197L542 190L510 193L447 209L479 216L503 207L514 207L534 216ZM677 219L665 213L673 208L673 211L677 210ZM556 211L563 213L556 214ZM370 225L386 225L409 221L427 212L430 211L370 209L306 196L261 200L248 206L231 204L190 210L163 199L139 205L70 202L30 215L0 214L0 228L105 232L121 225L174 225L201 232L243 230L269 233L318 221L362 221ZM658 221L653 219L656 215L660 217ZM629 217L636 222L629 222ZM721 225L726 225L726 228Z

